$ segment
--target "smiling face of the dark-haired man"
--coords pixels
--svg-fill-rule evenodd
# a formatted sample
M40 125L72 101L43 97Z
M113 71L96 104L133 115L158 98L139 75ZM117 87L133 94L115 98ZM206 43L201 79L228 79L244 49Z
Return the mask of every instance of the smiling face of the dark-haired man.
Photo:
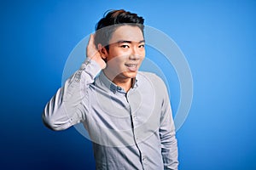
M105 74L115 79L134 78L145 57L143 32L137 26L119 26L109 40Z

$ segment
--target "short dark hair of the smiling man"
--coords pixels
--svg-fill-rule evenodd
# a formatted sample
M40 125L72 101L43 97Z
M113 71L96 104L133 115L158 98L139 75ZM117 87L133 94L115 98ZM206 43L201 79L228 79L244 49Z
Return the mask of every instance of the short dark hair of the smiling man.
M124 9L119 10L108 10L101 20L96 24L95 34L95 45L102 44L108 50L108 42L111 39L113 32L119 26L138 26L143 32L144 36L144 19L137 14L125 11ZM105 29L102 29L105 28Z

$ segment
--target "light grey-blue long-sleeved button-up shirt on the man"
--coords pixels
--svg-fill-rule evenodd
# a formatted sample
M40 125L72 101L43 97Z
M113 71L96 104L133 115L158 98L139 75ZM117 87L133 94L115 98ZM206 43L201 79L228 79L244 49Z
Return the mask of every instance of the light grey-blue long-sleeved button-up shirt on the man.
M139 71L125 93L95 61L85 61L49 100L43 120L53 130L82 122L93 142L96 169L177 169L169 97L153 73Z

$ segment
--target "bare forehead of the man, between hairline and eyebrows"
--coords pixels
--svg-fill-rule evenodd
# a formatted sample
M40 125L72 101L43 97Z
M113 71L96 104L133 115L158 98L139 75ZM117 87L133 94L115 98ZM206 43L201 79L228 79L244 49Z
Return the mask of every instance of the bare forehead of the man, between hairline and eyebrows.
M119 26L109 40L109 43L119 41L140 42L143 41L143 32L138 26Z

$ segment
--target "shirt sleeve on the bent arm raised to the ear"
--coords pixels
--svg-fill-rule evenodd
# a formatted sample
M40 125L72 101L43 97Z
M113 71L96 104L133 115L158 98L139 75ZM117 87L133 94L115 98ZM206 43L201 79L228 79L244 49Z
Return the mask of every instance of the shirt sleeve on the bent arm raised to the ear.
M100 71L96 61L85 60L45 106L42 118L46 127L64 130L86 119L88 88Z

